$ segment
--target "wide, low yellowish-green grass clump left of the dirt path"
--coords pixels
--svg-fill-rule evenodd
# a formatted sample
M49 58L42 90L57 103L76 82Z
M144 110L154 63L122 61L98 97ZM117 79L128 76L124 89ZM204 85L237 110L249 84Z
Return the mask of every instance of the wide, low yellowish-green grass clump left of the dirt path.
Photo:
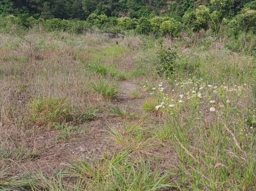
M38 126L64 123L73 119L70 101L66 98L38 98L28 103L30 121Z

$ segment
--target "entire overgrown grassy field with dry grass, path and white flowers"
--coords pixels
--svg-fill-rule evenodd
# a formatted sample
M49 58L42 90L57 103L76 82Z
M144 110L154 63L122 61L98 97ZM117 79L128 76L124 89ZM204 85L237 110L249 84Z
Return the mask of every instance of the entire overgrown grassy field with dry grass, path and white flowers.
M0 190L256 190L255 61L207 35L0 34Z

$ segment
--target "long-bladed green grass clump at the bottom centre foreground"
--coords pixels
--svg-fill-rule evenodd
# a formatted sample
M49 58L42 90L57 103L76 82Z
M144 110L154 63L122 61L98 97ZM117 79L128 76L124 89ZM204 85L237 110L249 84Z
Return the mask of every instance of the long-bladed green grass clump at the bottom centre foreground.
M95 162L79 161L74 164L76 175L83 179L85 190L154 191L174 187L170 174L144 159L129 159L129 152L122 152L110 159Z

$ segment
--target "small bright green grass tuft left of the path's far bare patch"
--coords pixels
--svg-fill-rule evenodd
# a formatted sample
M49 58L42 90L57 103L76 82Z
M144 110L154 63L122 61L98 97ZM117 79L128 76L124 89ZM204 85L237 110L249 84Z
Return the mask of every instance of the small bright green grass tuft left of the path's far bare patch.
M118 94L118 84L115 81L99 80L92 83L92 88L96 93L103 95L105 98L113 98Z

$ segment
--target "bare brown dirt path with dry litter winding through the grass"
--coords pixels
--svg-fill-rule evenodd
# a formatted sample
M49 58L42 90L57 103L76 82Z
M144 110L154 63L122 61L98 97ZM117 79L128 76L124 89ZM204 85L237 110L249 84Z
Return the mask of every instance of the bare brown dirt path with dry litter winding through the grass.
M145 95L141 98L131 99L131 92L141 91L141 87L130 81L120 81L120 92L112 102L112 106L126 109L128 113L141 113L141 103ZM65 168L71 160L102 158L104 154L111 155L112 148L107 138L109 125L123 123L120 117L112 117L109 112L101 113L95 121L81 125L81 129L86 133L72 137L67 141L56 141L57 131L46 132L28 140L41 145L44 151L39 157L24 162L30 171L40 169L46 174L52 174L60 168Z

